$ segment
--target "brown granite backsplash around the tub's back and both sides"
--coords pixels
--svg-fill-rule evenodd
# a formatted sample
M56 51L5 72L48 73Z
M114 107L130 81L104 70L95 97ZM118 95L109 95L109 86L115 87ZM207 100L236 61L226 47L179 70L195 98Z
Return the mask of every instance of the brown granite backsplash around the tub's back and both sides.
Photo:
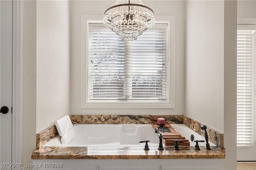
M187 117L186 115L70 115L73 124L150 124L158 117L165 118L166 123L182 124L188 126L196 133L204 136L200 129L202 123ZM209 141L224 148L224 135L210 127L207 128ZM50 139L58 135L55 125L52 125L36 134L36 149L40 149Z

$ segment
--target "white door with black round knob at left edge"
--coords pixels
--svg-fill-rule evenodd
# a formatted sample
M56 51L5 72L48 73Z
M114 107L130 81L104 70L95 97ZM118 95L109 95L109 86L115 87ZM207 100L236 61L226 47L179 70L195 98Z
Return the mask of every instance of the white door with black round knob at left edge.
M12 162L12 0L0 0L0 162ZM4 109L1 109L4 112Z

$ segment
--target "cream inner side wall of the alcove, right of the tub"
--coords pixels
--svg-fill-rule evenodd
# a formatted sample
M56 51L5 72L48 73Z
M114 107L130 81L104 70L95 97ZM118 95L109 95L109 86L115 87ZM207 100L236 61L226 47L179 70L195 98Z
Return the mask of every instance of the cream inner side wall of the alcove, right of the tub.
M224 132L224 1L186 10L186 115Z

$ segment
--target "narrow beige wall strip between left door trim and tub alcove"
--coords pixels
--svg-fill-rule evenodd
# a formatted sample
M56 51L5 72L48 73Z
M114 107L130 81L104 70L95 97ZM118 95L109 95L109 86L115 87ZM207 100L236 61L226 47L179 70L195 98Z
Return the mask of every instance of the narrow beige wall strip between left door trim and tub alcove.
M22 162L36 148L36 1L23 1Z

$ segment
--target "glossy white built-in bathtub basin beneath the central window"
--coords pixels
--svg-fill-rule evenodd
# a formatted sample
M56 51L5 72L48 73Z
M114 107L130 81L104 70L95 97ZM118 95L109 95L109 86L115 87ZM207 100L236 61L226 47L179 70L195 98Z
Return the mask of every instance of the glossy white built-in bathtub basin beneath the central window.
M194 135L195 140L204 140L204 137L195 133L183 124L172 124L172 127L190 140ZM150 141L149 146L158 146L159 138L151 124L78 124L73 125L75 137L68 145L63 145L60 136L51 139L44 147L95 147L95 146L144 146L139 141ZM209 142L210 146L215 146ZM190 141L190 146L195 143ZM199 146L205 146L199 143Z

